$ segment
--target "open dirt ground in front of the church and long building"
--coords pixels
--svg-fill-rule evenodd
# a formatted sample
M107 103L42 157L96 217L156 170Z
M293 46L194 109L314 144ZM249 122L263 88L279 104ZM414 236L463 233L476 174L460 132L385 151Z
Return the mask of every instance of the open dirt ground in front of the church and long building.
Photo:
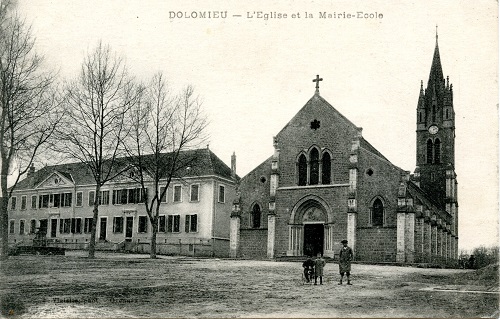
M303 284L300 262L85 252L1 265L4 317L495 317L498 266L472 271L354 264L352 286Z

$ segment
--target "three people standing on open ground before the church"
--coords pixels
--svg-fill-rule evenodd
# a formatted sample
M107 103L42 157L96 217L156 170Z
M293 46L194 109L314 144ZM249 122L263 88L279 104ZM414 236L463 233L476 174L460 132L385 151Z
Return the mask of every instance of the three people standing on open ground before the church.
M351 285L351 261L353 257L352 249L347 246L347 240L343 240L342 248L339 252L339 273L340 273L340 282L339 285L342 285L342 281L344 279L344 275L347 275L347 284ZM323 254L319 254L317 258L312 259L311 256L307 258L306 261L302 263L302 267L304 268L304 277L306 282L311 282L314 278L314 284L323 284L323 268L325 267L326 261L323 259Z

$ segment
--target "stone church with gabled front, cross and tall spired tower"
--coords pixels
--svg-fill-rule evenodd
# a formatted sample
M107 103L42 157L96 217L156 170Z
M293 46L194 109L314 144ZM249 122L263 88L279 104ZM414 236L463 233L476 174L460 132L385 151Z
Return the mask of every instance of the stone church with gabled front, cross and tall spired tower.
M458 256L453 85L436 46L416 107L416 168L392 164L319 92L274 137L274 154L238 185L230 256L453 265ZM416 92L415 92L416 93ZM408 128L408 134L414 132Z

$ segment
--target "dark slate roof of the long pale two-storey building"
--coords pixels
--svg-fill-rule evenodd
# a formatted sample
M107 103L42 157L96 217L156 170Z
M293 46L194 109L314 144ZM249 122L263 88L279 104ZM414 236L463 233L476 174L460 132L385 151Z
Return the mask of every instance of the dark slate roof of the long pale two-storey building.
M163 153L161 154L162 160L168 163L172 155L173 153ZM143 156L144 160L151 159L151 157L152 155ZM183 151L179 154L179 160L189 166L189 169L183 170L183 177L215 175L232 179L231 168L208 148ZM125 157L117 159L117 163L117 165L129 165ZM92 185L95 183L90 169L84 163L66 163L40 168L33 173L32 181L31 177L19 181L16 190L32 189L54 172L69 179L75 185ZM238 179L238 176L236 178Z

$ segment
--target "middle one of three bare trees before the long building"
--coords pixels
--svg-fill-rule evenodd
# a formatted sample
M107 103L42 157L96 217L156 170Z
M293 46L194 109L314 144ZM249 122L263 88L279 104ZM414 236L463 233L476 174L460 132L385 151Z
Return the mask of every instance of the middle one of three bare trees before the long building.
M66 87L68 116L58 135L57 149L83 163L95 181L89 258L95 256L96 225L101 187L121 173L124 126L130 108L141 95L141 87L127 73L123 59L101 42L87 55L79 76Z

